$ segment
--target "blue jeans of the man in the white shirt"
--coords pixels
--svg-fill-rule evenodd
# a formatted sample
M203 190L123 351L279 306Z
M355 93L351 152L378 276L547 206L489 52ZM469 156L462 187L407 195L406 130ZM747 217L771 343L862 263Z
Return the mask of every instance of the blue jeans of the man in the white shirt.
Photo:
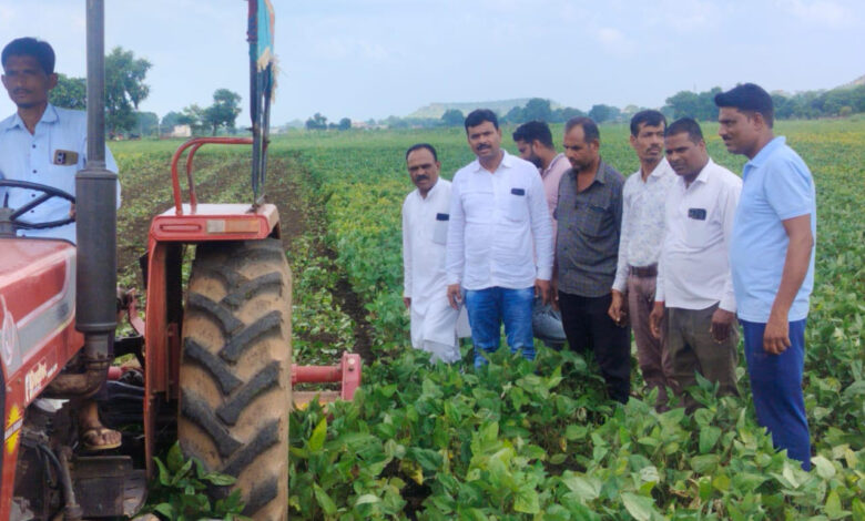
M531 330L535 287L508 289L493 286L466 289L465 302L471 326L471 343L475 346L475 367L487 364L484 353L492 353L499 348L502 321L510 351L522 350L526 359L535 359Z

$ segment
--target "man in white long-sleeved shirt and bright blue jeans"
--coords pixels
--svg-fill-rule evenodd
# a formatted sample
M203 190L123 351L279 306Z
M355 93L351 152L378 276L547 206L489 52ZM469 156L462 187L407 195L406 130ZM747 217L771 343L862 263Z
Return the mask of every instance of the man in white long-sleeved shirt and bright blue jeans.
M464 300L471 325L475 366L499 348L501 323L511 353L535 359L531 311L536 293L550 299L552 225L538 170L501 150L496 114L466 116L477 161L454 176L447 238L448 299Z

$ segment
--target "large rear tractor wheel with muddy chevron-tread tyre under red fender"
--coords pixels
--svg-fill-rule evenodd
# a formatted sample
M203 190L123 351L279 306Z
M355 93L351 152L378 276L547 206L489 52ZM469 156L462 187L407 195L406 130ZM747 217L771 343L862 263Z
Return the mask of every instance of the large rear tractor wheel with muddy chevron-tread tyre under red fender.
M278 239L204 243L183 318L177 438L233 476L255 520L287 519L292 282Z

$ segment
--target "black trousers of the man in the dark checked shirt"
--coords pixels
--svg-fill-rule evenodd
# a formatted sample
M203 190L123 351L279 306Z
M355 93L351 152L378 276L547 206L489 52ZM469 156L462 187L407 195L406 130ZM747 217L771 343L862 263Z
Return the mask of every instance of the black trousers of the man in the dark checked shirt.
M631 394L631 328L607 315L612 295L581 297L559 292L564 336L571 349L594 353L610 398L625 403Z

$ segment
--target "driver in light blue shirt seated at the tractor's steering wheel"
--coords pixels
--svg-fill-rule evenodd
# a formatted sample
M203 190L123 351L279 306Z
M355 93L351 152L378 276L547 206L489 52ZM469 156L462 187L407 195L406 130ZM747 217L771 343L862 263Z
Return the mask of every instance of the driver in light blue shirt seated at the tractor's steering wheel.
M28 181L75 195L75 173L86 162L86 114L49 103L57 86L54 51L48 42L34 38L12 40L2 51L2 82L18 106L14 114L0 121L0 178ZM118 171L105 147L105 167ZM17 208L38 192L7 190L2 203ZM120 183L118 183L120 206ZM24 221L43 223L74 216L74 205L58 197L28 212ZM45 229L19 231L19 236L51 237L75 242L75 224ZM111 355L111 354L110 354ZM103 388L95 399L105 399ZM86 449L106 450L120 446L120 432L105 428L99 419L96 401L88 400L79 411L81 441Z

